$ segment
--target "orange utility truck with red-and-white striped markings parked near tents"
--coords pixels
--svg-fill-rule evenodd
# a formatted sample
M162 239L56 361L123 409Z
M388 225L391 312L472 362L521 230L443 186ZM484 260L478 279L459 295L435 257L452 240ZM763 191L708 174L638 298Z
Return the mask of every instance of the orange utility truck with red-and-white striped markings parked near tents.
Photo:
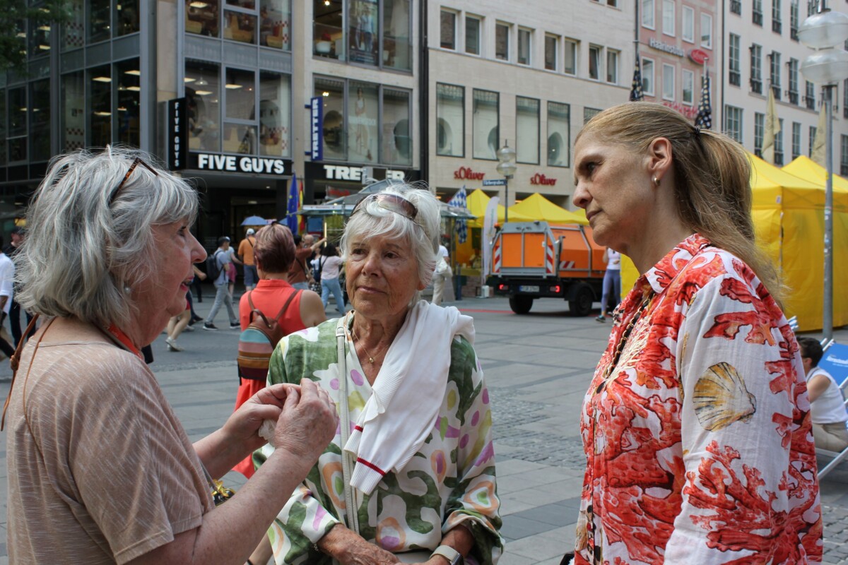
M494 237L487 284L509 296L518 314L537 298L561 298L572 316L588 316L600 302L605 269L604 247L588 225L507 222Z

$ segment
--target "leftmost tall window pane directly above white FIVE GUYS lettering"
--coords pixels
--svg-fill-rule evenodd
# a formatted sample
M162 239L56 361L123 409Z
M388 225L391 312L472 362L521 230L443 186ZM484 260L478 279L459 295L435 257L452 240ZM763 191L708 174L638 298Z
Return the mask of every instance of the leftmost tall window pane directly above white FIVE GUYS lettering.
M186 61L188 148L220 151L220 67Z

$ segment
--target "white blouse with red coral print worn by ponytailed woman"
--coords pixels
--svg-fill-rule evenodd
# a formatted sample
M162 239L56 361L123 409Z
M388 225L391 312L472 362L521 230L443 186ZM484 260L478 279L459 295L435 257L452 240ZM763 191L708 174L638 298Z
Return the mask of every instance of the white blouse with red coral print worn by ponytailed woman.
M745 263L689 236L616 310L583 402L576 562L821 562L809 409L778 304Z

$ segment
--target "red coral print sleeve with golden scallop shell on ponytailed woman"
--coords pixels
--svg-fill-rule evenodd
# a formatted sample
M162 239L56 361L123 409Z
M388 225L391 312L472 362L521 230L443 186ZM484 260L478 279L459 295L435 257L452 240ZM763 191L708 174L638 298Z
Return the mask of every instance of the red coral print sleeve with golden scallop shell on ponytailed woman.
M734 267L679 301L671 353L685 473L675 477L681 512L667 564L807 562L821 554L797 343L750 269L738 260Z

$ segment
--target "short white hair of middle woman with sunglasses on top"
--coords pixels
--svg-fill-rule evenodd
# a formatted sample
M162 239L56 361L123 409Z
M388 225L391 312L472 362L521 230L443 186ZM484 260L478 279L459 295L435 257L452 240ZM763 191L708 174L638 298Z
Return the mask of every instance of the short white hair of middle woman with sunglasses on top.
M365 202L344 226L342 259L347 260L353 239L368 240L383 235L393 240L408 241L418 263L418 280L422 285L429 285L438 261L442 224L438 200L426 187L410 184L389 186L382 192L397 194L408 200L418 210L416 219L410 221L400 213L381 208L376 201ZM418 302L420 294L416 292L412 303Z

